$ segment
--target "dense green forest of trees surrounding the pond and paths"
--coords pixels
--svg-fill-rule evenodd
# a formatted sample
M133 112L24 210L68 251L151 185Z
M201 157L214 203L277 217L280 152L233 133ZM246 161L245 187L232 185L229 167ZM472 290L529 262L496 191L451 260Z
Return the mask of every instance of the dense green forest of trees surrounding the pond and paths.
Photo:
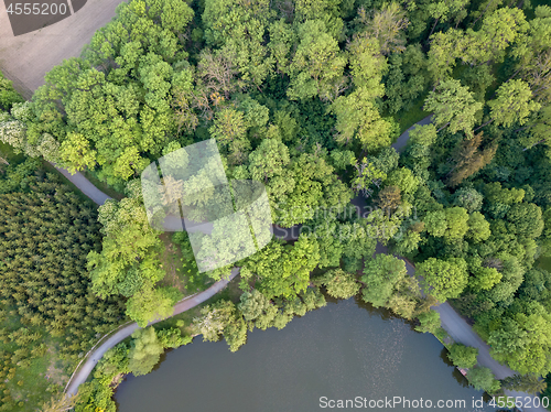
M138 330L63 398L101 336L170 316L233 269L199 273L187 235L153 229L143 207L144 167L207 139L228 178L261 182L272 221L302 232L237 262L215 299ZM48 162L114 199L97 208ZM203 335L236 351L255 327L355 295L433 333L476 389L551 395L551 7L120 3L30 101L0 77L0 411L115 412L121 377L166 348ZM390 253L374 256L378 242ZM476 366L437 302L518 375Z

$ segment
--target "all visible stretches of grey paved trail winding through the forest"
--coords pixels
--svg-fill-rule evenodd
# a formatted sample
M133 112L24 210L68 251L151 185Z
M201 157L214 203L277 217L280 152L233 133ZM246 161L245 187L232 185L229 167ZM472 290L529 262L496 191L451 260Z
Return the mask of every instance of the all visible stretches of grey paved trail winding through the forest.
M399 138L398 140L392 144L392 147L398 151L402 151L406 148L406 144L408 143L409 140L409 132L417 126L417 124L428 124L431 121L431 116L428 116L426 118L422 119L418 123L413 124L411 128L406 130ZM54 165L55 166L55 165ZM96 186L94 186L84 175L80 173L76 174L71 174L68 171L57 167L56 169L65 176L67 177L75 186L77 186L79 189L83 191L83 193L88 196L91 200L94 200L98 205L102 205L107 199L111 198L107 196L105 193L99 191ZM355 199L355 203L365 203L365 199ZM274 227L274 235L278 236L279 231L282 231L285 234L281 237L283 237L285 240L292 240L293 238L298 237L299 230L290 230L290 234L288 232L289 229L279 229L278 227ZM280 237L280 236L278 236ZM388 253L388 249L383 247L382 245L377 245L377 250L376 253ZM408 273L410 275L414 275L415 273L415 268L404 260L406 267L408 270ZM231 271L231 275L229 280L234 279L237 274L239 273L239 268L234 268ZM185 312L199 303L206 301L207 299L212 297L215 295L217 292L219 292L222 289L226 286L226 284L229 282L229 280L222 280L214 285L212 285L209 289L206 291L188 299L180 302L176 304L175 310L174 310L174 315ZM473 330L471 325L467 324L467 322L455 312L455 310L446 302L442 303L437 306L433 307L436 312L440 313L440 319L442 327L446 330L446 333L453 338L454 341L466 345L466 346L472 346L478 349L478 365L482 367L486 367L491 369L494 375L496 376L497 379L504 379L506 377L510 377L515 375L515 371L511 370L509 367L499 364L491 356L490 356L490 348L489 346L476 334L476 332ZM160 321L154 321L153 323L156 323ZM85 365L78 370L78 372L72 378L71 384L68 386L67 393L74 394L78 390L78 386L83 382L86 381L88 375L91 372L94 367L96 366L97 361L104 356L104 354L116 346L119 341L122 339L127 338L130 336L136 329L138 329L139 326L137 324L131 324L122 328L121 330L117 332L114 334L111 337L109 337L101 346L99 346L87 359ZM530 397L527 393L522 392L514 392L514 391L506 391L508 395L511 397L521 397L522 402L526 402L526 399ZM533 411L533 412L547 412L547 410L542 406L539 408L522 408L521 410L523 411Z

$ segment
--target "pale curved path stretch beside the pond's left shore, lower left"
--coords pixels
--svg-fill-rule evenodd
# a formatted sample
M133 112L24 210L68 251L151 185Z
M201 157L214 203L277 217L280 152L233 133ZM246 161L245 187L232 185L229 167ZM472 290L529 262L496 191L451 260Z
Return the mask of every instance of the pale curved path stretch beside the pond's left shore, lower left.
M205 302L206 300L213 297L215 294L217 294L219 291L222 291L226 285L231 281L237 274L239 274L239 268L234 268L231 270L231 274L229 275L228 279L223 279L215 284L213 284L210 288L208 288L206 291L197 293L196 295L193 295L188 299L184 299L176 303L174 306L174 313L169 316L175 316L179 313L185 312L191 310L192 307L197 306L198 304ZM163 321L158 319L150 322L149 325L153 325L158 322ZM78 371L72 377L67 389L66 393L68 394L76 394L78 391L78 387L86 382L86 379L88 379L88 376L91 373L94 368L96 367L96 364L98 362L99 359L105 355L107 350L132 335L136 330L138 330L140 326L138 324L132 323L128 326L125 326L117 333L115 333L112 336L110 336L105 343L102 343L97 349L95 349L89 356L88 359L84 362L84 365L78 369Z

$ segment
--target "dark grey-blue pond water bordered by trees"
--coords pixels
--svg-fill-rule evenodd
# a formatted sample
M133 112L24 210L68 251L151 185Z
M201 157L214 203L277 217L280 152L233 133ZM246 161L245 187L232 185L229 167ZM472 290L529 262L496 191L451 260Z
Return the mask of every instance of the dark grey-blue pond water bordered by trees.
M465 402L443 411L495 410L478 408L483 393L468 387L434 336L358 299L328 302L281 330L255 329L235 354L225 341L196 337L151 373L129 376L115 398L119 412L310 412L356 397L359 410L390 409L381 408L386 397L401 399L393 411L439 410L439 400ZM424 408L414 408L421 399Z

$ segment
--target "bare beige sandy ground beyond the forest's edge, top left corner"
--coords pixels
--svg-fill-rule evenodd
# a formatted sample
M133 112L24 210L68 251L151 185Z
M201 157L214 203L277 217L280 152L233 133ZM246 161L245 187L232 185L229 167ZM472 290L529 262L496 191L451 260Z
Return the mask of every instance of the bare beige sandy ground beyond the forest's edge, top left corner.
M44 75L65 58L77 57L96 30L115 17L121 0L88 0L73 15L31 33L14 36L0 1L0 69L25 98L44 84Z

